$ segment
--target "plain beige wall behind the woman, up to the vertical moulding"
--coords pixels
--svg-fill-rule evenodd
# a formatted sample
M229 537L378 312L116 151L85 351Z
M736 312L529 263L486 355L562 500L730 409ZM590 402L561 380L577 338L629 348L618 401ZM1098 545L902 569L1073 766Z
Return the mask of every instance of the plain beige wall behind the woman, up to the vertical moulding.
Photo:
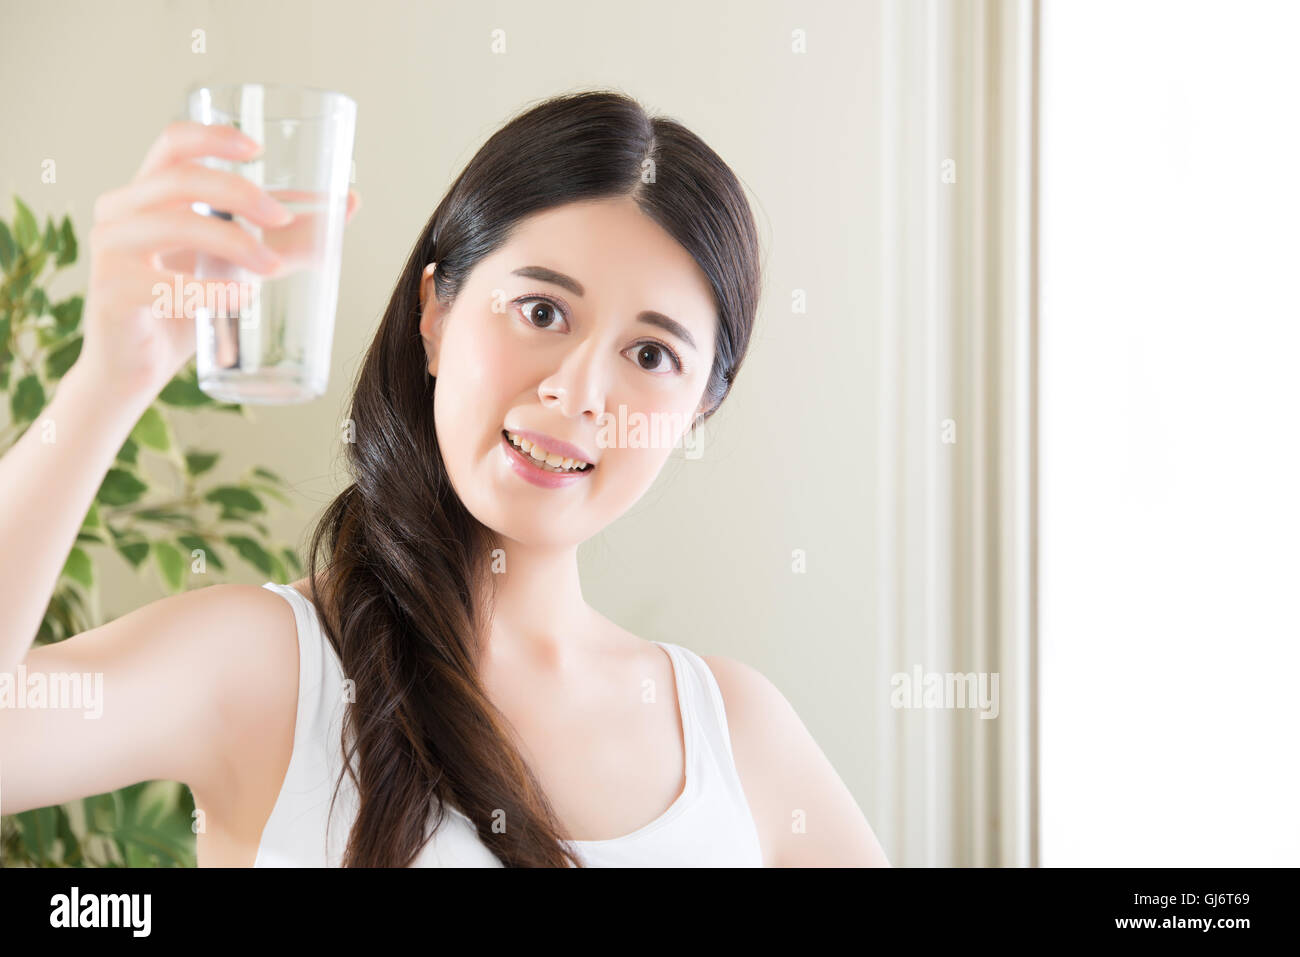
M14 3L0 7L0 186L81 231L204 79L291 81L359 104L356 187L329 393L255 421L182 417L233 476L298 489L299 541L343 485L347 390L412 241L480 143L530 100L589 86L699 133L751 191L767 255L750 356L702 459L675 454L581 551L584 590L644 637L746 661L790 700L874 820L867 377L879 303L878 10L857 3ZM191 52L205 31L207 52ZM493 30L507 52L490 52ZM792 31L807 52L792 52ZM57 182L40 182L53 159ZM84 281L84 257L55 289ZM807 312L794 313L793 290ZM858 437L862 441L854 442ZM792 553L807 572L792 572ZM260 583L251 570L238 580ZM159 594L108 576L105 614ZM890 848L890 835L878 833Z

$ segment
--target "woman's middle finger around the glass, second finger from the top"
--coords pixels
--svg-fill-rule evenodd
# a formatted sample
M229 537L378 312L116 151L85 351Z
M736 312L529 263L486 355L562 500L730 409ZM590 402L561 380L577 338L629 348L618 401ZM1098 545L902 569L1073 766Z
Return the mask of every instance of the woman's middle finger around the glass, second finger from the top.
M185 161L103 194L95 202L95 221L112 222L143 209L181 203L205 203L265 228L281 226L292 218L289 209L251 179Z

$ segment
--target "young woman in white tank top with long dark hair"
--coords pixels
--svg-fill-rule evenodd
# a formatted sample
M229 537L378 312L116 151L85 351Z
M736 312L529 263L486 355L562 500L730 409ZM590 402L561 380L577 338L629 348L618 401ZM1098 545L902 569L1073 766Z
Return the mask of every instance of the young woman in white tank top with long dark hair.
M30 650L114 454L194 351L153 282L207 251L269 273L281 211L235 130L177 124L100 198L84 347L0 460L0 668L101 672L98 720L0 711L5 813L185 781L200 865L887 865L755 670L646 641L582 598L577 546L744 359L759 248L731 169L621 94L497 131L415 242L351 404L351 484L292 585L213 585ZM161 268L160 268L161 267ZM634 433L633 433L634 434ZM21 546L16 545L21 542Z

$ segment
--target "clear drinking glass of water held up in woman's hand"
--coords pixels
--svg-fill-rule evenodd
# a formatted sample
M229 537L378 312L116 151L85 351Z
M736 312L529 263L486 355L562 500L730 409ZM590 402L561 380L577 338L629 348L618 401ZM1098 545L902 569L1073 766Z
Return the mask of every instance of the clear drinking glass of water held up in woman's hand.
M329 385L356 103L312 87L226 83L192 88L186 114L235 126L261 143L263 152L247 163L216 156L200 163L247 177L294 213L287 225L264 229L194 204L196 212L237 221L285 260L285 268L268 277L198 255L198 278L248 283L243 300L208 298L195 309L199 387L222 402L318 398Z

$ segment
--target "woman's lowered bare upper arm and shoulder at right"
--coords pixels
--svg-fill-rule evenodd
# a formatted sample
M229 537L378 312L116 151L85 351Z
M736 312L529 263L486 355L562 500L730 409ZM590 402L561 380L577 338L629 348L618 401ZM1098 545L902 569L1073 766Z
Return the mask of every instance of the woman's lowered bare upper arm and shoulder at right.
M723 693L732 753L768 867L889 867L853 794L759 671L705 657Z

